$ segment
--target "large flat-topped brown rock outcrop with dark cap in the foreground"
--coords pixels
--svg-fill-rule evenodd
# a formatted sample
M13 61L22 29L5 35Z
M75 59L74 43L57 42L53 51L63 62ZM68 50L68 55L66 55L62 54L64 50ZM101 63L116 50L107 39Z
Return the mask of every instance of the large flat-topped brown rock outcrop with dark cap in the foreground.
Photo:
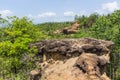
M91 38L33 43L43 57L41 80L110 80L105 67L113 42Z

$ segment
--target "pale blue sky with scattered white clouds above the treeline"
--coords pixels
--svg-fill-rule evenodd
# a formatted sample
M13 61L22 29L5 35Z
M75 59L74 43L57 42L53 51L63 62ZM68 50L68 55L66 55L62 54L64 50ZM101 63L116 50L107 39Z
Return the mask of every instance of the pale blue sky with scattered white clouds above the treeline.
M107 14L120 9L120 0L0 0L0 14L27 16L34 23L73 21L74 16Z

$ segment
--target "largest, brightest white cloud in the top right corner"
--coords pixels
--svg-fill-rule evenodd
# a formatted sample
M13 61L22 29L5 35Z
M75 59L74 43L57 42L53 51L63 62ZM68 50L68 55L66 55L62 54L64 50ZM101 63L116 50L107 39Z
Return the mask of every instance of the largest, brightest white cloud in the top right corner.
M119 7L118 7L118 3L116 1L113 1L113 2L102 4L102 9L113 12L114 10L119 9Z

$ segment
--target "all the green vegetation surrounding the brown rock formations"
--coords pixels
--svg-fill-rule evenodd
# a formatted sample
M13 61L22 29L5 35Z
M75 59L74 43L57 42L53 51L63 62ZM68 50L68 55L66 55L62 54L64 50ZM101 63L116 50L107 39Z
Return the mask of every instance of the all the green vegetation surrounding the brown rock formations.
M29 43L44 39L93 37L111 40L115 48L111 54L108 75L120 80L120 10L108 15L75 16L81 28L76 34L54 34L71 25L71 22L33 24L27 17L16 16L3 19L0 16L0 80L27 80L28 72L34 69L38 60L36 47L29 49ZM22 74L24 72L24 74ZM118 76L115 76L118 75Z

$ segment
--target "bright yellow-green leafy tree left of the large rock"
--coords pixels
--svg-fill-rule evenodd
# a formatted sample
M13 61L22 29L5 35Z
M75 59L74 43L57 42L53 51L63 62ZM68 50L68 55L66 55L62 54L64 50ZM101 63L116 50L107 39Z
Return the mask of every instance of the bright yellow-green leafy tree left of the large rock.
M0 56L2 57L0 66L4 66L0 69L3 73L0 77L3 79L11 78L10 74L17 75L22 70L27 70L25 67L29 69L35 67L33 57L37 49L35 47L29 49L29 43L46 38L43 31L35 27L26 17L9 17L9 21L11 24L8 27L0 28Z

